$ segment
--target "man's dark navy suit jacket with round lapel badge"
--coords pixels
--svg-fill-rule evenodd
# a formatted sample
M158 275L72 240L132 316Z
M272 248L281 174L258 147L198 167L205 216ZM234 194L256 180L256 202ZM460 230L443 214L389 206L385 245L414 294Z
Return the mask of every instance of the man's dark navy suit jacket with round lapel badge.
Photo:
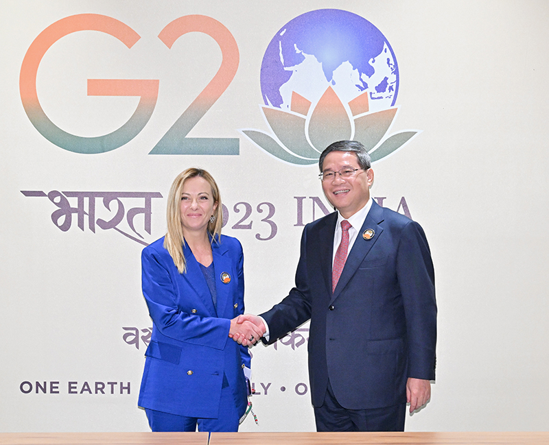
M332 294L338 214L307 224L296 285L261 314L268 343L311 320L312 402L323 405L327 382L347 409L406 402L409 377L434 379L436 302L427 239L416 222L373 202ZM362 236L372 229L371 239Z

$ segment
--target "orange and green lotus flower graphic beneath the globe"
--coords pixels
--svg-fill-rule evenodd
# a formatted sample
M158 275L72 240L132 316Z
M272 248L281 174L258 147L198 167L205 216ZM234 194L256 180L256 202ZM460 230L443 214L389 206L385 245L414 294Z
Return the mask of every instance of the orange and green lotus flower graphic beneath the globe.
M316 104L295 91L289 110L262 105L261 112L272 134L261 130L240 130L265 152L294 165L318 163L323 149L335 141L360 141L376 162L408 143L419 131L387 135L398 106L369 112L369 92L343 104L328 86Z

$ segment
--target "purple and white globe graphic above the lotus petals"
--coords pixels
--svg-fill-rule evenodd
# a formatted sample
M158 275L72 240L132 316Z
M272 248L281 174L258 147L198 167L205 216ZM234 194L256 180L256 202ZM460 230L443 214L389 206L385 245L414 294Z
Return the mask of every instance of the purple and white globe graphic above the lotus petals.
M297 16L272 38L261 63L268 106L289 110L293 92L316 104L328 86L343 104L368 92L370 111L397 100L393 49L377 27L352 12L324 9Z

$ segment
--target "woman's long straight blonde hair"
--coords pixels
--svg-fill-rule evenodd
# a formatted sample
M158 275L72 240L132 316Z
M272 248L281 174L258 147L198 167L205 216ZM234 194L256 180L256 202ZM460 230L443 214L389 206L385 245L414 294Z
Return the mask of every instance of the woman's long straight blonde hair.
M223 209L221 205L221 195L218 188L218 184L215 183L213 176L206 170L202 169L187 169L178 174L178 176L172 182L170 187L170 194L167 197L166 219L167 219L167 233L164 237L164 248L170 252L174 264L176 265L180 274L185 274L187 271L187 265L185 263L185 255L183 255L183 243L185 243L185 237L183 237L183 228L181 226L181 214L180 214L180 202L181 195L183 193L183 186L185 181L190 178L204 178L210 184L211 196L213 203L218 204L213 216L215 217L213 222L208 223L208 232L211 235L212 242L215 240L219 242L221 238L221 226L223 225Z

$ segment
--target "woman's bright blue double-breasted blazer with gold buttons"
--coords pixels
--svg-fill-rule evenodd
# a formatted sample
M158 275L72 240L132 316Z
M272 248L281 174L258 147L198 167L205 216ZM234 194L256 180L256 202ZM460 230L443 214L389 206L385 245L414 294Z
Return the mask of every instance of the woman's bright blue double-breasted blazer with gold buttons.
M213 241L217 309L200 265L185 244L187 272L180 274L164 239L141 254L143 296L152 318L139 406L179 416L218 418L223 383L235 392L240 416L246 409L243 365L248 348L229 338L232 318L244 313L244 256L240 242ZM222 282L226 272L229 282ZM224 378L225 376L225 378Z

